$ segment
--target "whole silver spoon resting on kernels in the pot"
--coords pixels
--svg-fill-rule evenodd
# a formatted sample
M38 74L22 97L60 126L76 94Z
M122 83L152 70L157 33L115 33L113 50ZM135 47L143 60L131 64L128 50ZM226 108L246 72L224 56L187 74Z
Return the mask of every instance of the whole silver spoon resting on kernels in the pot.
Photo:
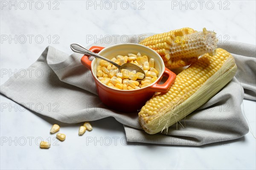
M128 71L134 71L135 70L136 73L140 72L140 73L144 74L143 79L145 79L145 77L146 77L146 74L145 74L144 70L142 68L140 68L138 65L135 65L135 64L132 64L132 63L125 63L123 65L118 65L115 62L111 61L110 59L107 59L105 57L100 56L99 54L96 54L96 53L93 53L92 51L87 50L86 48L84 48L83 46L81 46L79 44L71 44L70 48L72 49L72 51L74 51L76 53L88 54L90 56L97 57L97 58L103 59L107 62L110 62L111 64L116 66L119 69L119 71L121 71L122 69L126 69ZM143 79L137 79L136 81L139 82Z

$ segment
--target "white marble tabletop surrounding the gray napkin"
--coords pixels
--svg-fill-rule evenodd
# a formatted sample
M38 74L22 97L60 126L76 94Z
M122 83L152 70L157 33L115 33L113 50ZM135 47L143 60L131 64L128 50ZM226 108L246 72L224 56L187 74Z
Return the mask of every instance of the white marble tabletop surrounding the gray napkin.
M48 1L41 1L44 5L41 10L37 9L41 8L41 3L36 1L32 1L31 9L27 1L23 1L26 8L19 1L12 1L12 4L15 2L17 9L9 6L9 1L1 1L1 84L9 78L9 74L2 74L3 70L15 72L27 68L47 45L70 54L70 43L78 42L86 46L93 43L95 38L111 34L160 33L186 26L201 30L206 27L217 32L222 40L229 38L230 41L256 44L254 0L222 1L221 9L219 1L205 1L202 9L200 3L194 1L197 4L195 10L192 10L195 4L190 3L189 6L189 1L187 9L186 6L180 6L180 1L137 1L134 9L134 1L129 1L127 10L124 10L126 6L122 1L116 2L116 9L115 2L109 1L112 5L109 10L106 9L109 4L104 1L101 2L102 9L101 6L95 6L95 1L51 1L50 10ZM100 1L97 3L100 4ZM211 8L212 3L214 8L207 9ZM93 6L89 6L90 4ZM56 5L58 9L52 10ZM141 5L144 9L138 10ZM225 6L230 9L224 10ZM17 43L15 40L9 42L9 36L14 38L15 35ZM24 36L26 42L22 43ZM29 36L33 36L31 43ZM36 36L38 42L35 40ZM5 40L6 37L8 40ZM42 43L39 43L40 37L44 38ZM90 37L95 38L86 40ZM54 43L54 40L58 43ZM24 111L4 96L0 96L0 99L0 169L256 168L256 140L251 133L228 143L202 147L127 144L122 125L113 118L92 122L93 131L86 132L84 136L77 135L80 124L60 123L61 132L67 135L67 139L57 142L56 146L52 145L48 150L42 150L35 139L39 137L40 141L40 137L50 137L52 144L56 142L54 135L48 133L56 121L28 110ZM8 108L3 108L3 103L7 103ZM244 108L255 135L256 103L244 100L243 104L241 107Z

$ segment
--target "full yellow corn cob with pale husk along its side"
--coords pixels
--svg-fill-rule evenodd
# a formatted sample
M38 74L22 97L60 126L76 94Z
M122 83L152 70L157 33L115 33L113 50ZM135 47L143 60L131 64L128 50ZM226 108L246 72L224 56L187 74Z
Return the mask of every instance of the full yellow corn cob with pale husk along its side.
M165 94L155 94L139 113L145 132L158 133L177 123L218 93L236 74L233 56L217 48L216 55L204 54L177 75ZM192 107L193 106L193 107Z

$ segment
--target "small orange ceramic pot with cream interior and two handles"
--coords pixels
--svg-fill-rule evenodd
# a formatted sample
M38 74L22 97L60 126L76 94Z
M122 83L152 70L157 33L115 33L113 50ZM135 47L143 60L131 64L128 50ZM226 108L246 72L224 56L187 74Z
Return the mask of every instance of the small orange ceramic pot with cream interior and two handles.
M92 61L90 61L89 57L86 55L81 58L81 63L89 68L93 74L99 98L105 105L113 110L120 112L140 111L142 106L145 105L145 102L150 99L155 92L167 92L175 81L176 74L165 67L163 59L160 57L160 55L144 45L127 43L112 45L107 48L93 46L90 48L90 51L99 53L99 55L108 59L112 59L117 55L125 56L128 53L137 54L138 52L140 52L142 56L146 55L148 58L154 59L154 68L156 68L159 72L158 79L154 83L140 89L117 90L103 84L96 77L97 66L99 65L100 59L94 58ZM168 78L166 82L159 84L163 76Z

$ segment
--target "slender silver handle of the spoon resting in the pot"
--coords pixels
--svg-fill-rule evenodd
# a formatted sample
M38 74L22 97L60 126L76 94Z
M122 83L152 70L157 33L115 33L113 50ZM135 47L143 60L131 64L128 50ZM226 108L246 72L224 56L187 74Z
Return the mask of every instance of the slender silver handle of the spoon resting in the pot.
M74 51L76 53L89 54L90 56L97 57L97 58L103 59L107 62L110 62L111 64L115 65L117 68L120 67L120 65L116 64L115 62L111 61L110 59L107 59L107 58L102 57L96 53L93 53L92 51L87 50L86 48L84 48L83 46L81 46L79 44L71 44L70 48L72 49L72 51Z

